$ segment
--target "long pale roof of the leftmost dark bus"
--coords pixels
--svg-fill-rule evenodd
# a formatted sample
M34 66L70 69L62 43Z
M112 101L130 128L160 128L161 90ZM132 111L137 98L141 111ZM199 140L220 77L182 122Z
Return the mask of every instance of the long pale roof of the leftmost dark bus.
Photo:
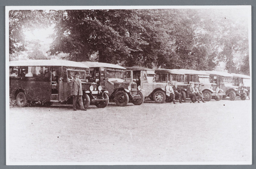
M76 68L87 68L85 64L70 60L15 60L9 62L10 66L70 66Z

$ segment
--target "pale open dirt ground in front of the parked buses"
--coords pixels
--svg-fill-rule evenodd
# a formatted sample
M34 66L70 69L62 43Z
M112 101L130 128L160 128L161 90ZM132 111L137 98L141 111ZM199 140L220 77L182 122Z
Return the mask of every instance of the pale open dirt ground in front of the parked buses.
M250 100L10 108L10 162L249 162ZM8 157L7 157L8 158Z

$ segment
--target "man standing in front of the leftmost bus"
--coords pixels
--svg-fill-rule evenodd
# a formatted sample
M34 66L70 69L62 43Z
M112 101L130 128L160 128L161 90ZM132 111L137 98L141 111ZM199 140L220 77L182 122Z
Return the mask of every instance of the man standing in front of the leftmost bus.
M83 91L82 91L82 82L79 79L80 74L78 72L76 72L74 74L74 78L71 80L71 86L72 86L72 95L73 95L73 110L76 111L76 104L78 102L78 104L80 105L80 109L81 110L86 110L85 108L83 108L83 102L82 102L82 95L83 95Z

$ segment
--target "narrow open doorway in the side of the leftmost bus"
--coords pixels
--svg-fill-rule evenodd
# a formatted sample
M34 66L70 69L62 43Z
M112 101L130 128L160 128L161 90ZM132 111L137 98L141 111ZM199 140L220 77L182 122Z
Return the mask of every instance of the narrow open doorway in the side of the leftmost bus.
M59 68L52 67L51 72L51 101L59 100Z

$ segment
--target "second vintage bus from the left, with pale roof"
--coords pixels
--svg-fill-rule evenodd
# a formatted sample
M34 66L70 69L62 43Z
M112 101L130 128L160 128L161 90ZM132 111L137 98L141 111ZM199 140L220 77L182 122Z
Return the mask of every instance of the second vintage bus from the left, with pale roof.
M141 88L137 87L135 82L126 81L126 68L93 61L82 63L90 67L89 82L96 82L108 90L109 100L114 101L117 106L126 106L129 101L134 105L140 105L144 102Z

